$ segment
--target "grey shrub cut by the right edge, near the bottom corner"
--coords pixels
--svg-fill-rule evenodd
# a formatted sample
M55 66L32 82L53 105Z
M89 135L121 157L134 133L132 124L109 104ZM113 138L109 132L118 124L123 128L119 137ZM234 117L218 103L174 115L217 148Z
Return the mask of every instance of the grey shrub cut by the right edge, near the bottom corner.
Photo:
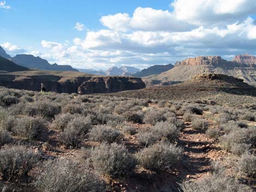
M237 167L242 174L248 177L256 177L256 156L248 153L242 154Z

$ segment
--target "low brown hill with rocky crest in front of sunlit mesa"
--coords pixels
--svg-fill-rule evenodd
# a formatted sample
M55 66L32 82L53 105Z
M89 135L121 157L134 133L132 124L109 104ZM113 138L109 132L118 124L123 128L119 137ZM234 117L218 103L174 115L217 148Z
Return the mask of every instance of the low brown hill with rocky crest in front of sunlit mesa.
M244 83L242 79L222 74L196 75L183 83L167 86L149 86L139 91L119 92L116 96L166 99L166 100L197 100L213 98L218 94L256 96L256 89ZM220 101L218 101L220 102Z

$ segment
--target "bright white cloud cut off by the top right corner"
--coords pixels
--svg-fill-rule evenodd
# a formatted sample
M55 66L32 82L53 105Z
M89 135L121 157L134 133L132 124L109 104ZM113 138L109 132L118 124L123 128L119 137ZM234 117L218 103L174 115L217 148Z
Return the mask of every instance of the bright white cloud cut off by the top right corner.
M177 20L198 26L225 25L256 13L255 0L175 0L171 6Z

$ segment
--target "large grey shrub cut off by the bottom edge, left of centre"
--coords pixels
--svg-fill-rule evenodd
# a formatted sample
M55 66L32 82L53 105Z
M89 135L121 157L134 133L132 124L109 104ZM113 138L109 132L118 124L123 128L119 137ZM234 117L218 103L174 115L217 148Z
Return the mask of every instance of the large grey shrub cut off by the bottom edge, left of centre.
M97 174L68 159L45 163L34 185L42 192L106 191Z

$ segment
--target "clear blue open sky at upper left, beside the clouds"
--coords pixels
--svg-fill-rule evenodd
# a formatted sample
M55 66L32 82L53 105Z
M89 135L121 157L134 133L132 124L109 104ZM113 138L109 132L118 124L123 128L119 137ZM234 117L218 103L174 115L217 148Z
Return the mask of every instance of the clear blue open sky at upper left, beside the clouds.
M5 1L6 2L6 1ZM11 9L0 10L0 42L11 42L28 49L40 47L40 41L64 42L75 37L83 38L85 32L74 30L74 23L83 23L86 28L106 28L99 22L102 15L129 13L137 7L170 9L170 1L102 1L102 0L9 0Z

